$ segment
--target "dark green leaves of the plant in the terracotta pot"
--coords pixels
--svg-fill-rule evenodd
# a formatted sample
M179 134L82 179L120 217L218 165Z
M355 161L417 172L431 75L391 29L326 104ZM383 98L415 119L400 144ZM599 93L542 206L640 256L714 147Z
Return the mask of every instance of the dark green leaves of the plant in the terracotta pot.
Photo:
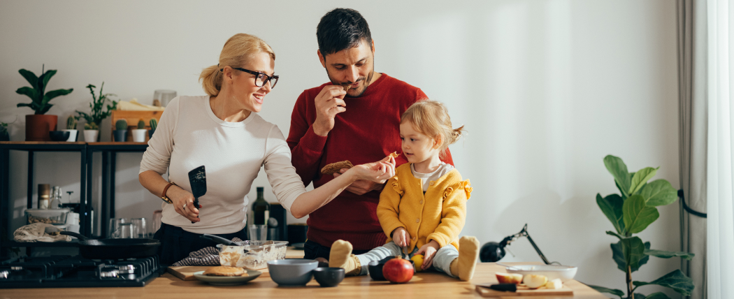
M48 81L51 80L51 77L56 75L56 70L48 70L44 73L42 67L40 76L36 76L36 74L26 69L18 70L18 73L21 73L23 78L26 78L26 81L31 84L30 87L23 86L18 90L15 90L15 93L18 95L27 95L31 98L31 103L18 103L18 107L32 108L33 111L35 111L34 114L46 114L48 109L51 109L51 106L54 106L53 104L48 103L51 99L61 95L68 95L74 90L73 88L70 88L56 89L46 92Z

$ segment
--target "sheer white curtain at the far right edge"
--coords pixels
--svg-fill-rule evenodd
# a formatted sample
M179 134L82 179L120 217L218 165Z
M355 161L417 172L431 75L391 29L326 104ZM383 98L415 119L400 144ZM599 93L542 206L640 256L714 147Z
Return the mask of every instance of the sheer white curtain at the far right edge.
M730 0L706 2L707 18L707 259L708 298L734 297L734 106Z

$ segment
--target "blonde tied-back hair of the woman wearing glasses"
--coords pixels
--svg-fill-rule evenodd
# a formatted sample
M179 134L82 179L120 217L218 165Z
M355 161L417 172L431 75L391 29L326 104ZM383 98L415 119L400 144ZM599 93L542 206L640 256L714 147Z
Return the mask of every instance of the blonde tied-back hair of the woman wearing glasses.
M219 70L227 65L241 67L247 63L247 59L257 53L269 53L270 58L275 61L275 52L260 37L244 33L234 34L225 43L222 53L219 53L219 64L205 68L199 75L204 92L212 97L219 95L219 90L222 89L222 72Z

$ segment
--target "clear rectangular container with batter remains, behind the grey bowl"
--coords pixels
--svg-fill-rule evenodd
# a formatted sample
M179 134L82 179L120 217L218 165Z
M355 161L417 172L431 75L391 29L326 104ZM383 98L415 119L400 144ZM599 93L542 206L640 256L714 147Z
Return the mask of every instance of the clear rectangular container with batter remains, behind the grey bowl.
M218 244L219 264L260 270L268 267L269 261L286 258L286 241L243 241L242 246ZM247 252L245 252L247 251Z

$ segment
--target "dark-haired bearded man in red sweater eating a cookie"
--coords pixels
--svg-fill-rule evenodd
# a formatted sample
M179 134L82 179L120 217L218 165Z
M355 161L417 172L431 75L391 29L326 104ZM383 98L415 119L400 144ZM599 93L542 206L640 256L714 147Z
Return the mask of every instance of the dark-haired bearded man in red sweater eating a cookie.
M350 160L362 164L401 153L400 116L426 94L384 73L374 72L374 41L356 10L327 12L316 27L319 60L330 82L301 93L291 114L288 146L303 183L314 187L334 177L320 170ZM349 87L347 89L347 87ZM345 91L347 89L347 91ZM396 166L406 163L404 155ZM446 163L451 163L447 152ZM377 220L383 184L357 181L324 207L310 213L305 258L329 258L335 240L347 240L354 254L382 246L387 236Z

